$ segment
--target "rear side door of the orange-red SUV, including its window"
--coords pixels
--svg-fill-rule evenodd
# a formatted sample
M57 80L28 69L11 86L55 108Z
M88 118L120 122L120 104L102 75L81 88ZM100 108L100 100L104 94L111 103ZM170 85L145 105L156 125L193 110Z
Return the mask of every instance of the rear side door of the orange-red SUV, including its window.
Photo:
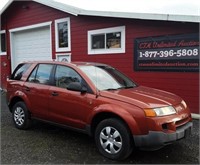
M48 119L48 96L52 64L38 64L24 83L24 92L35 118Z

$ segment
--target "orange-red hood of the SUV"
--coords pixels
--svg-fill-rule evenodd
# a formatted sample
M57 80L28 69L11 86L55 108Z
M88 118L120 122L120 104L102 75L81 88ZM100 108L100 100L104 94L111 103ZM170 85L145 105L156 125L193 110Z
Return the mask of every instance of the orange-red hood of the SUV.
M177 105L182 101L182 99L175 94L144 86L130 89L100 91L100 95L102 97L133 104L140 108L157 108Z

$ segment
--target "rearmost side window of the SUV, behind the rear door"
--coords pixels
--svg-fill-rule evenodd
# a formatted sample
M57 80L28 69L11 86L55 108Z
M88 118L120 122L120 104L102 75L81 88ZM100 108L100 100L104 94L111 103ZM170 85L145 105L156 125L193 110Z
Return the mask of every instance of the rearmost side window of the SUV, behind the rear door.
M22 76L30 66L31 64L19 64L11 75L11 80L21 80Z

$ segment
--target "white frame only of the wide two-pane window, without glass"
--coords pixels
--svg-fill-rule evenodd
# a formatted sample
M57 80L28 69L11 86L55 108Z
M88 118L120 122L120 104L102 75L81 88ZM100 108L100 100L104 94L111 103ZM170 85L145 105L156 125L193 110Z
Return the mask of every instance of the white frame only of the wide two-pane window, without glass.
M92 49L92 35L96 34L107 34L107 33L114 33L114 32L121 32L121 48L110 48L107 49L106 46L104 49ZM104 29L97 29L97 30L90 30L88 31L88 54L116 54L116 53L125 53L126 48L126 40L125 40L125 26L118 26L112 28L104 28ZM106 39L105 39L106 40ZM105 43L106 44L106 43Z

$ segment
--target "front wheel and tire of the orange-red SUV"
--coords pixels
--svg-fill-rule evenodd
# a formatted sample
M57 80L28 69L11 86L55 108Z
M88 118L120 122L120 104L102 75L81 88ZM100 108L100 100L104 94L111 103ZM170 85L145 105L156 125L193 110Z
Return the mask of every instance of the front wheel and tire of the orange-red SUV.
M132 138L129 129L119 119L101 121L95 130L95 142L99 152L113 160L123 160L132 152Z

